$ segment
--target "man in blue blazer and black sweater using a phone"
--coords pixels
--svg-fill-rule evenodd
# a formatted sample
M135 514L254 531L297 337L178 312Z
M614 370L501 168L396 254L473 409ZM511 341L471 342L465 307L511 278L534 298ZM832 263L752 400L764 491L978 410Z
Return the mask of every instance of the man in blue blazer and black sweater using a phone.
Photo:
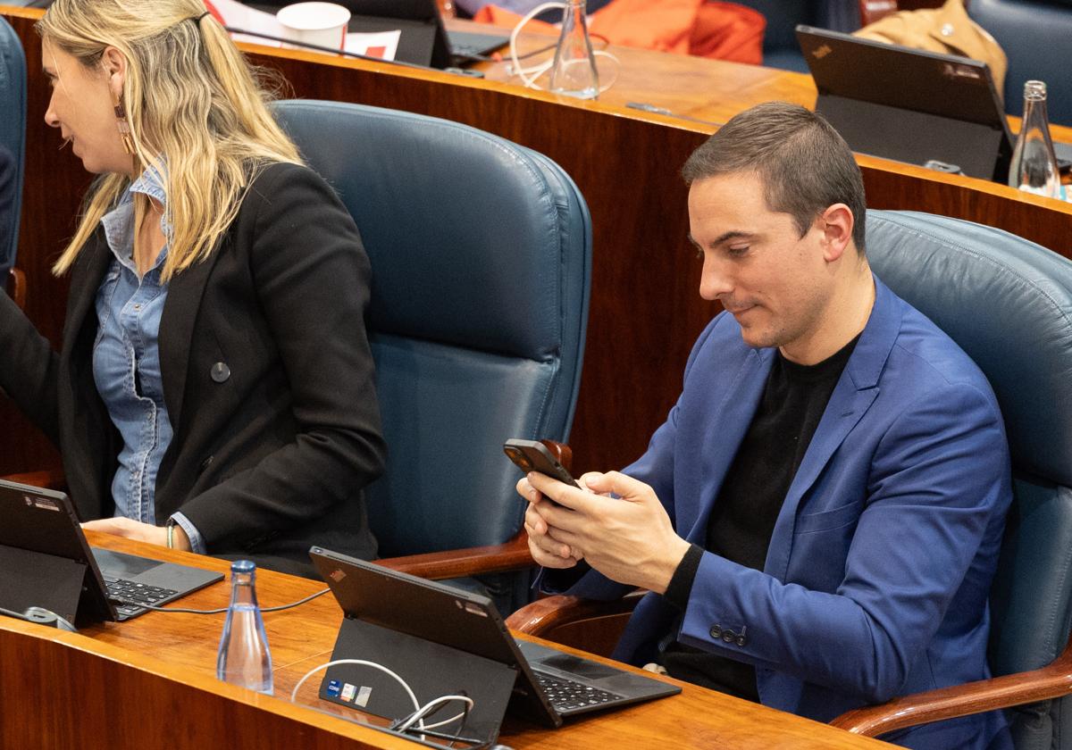
M684 174L700 294L726 312L639 461L587 492L519 482L542 585L647 588L616 658L819 721L989 676L1001 416L967 355L873 275L845 141L760 105ZM998 712L887 738L1008 744Z

